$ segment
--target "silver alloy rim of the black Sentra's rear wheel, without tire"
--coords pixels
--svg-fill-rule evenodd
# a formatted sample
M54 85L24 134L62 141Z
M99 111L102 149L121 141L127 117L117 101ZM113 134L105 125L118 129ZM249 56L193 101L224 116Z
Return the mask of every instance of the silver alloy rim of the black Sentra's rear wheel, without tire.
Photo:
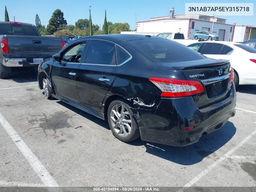
M121 104L115 104L111 108L110 121L112 129L121 137L127 137L131 133L131 115Z

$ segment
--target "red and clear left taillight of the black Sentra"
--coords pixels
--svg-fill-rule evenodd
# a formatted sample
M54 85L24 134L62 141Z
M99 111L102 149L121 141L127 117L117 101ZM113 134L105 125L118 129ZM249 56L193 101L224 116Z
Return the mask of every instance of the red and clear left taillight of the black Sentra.
M204 92L203 86L198 81L158 77L150 77L149 80L161 89L161 96L164 97L183 97Z

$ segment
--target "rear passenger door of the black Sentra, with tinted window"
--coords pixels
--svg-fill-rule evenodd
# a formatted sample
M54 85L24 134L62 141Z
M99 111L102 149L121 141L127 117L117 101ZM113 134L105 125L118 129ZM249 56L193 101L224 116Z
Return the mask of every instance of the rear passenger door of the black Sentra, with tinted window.
M86 57L78 69L77 89L80 104L99 111L103 99L115 80L115 44L91 40Z

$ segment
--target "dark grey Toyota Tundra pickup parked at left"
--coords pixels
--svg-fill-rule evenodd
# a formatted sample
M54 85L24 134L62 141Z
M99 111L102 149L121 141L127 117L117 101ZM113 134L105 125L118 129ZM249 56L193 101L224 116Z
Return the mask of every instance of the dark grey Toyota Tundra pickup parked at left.
M41 36L35 25L21 22L0 22L0 43L0 79L14 67L38 66L65 46L61 38Z

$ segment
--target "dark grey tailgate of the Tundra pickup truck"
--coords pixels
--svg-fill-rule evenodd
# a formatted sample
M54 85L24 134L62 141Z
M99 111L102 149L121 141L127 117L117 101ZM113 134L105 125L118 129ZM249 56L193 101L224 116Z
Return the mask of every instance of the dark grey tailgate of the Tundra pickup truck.
M59 37L7 35L9 58L49 58L62 49Z

